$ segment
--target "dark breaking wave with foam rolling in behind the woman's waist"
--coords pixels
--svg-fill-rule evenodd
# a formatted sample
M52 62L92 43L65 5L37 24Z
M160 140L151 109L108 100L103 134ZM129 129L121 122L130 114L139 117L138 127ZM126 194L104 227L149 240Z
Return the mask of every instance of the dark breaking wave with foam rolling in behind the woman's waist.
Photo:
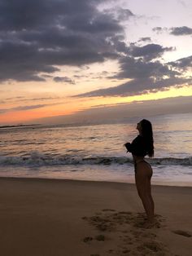
M147 158L156 166L192 166L192 157L185 158ZM31 152L28 156L7 157L0 156L0 166L63 166L63 165L126 165L133 164L129 157L76 157L71 155L49 155L40 152Z

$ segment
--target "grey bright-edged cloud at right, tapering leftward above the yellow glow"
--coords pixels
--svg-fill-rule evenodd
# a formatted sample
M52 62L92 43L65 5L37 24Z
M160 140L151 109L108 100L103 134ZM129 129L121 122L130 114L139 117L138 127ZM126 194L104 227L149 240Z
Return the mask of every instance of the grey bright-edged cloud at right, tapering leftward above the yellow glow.
M156 32L168 31L167 28L156 27ZM119 71L111 79L129 79L119 86L89 91L75 97L98 96L132 96L143 95L170 87L191 86L192 77L186 77L185 71L191 68L191 56L164 64L161 57L167 51L175 51L174 47L165 47L155 43L141 46L151 38L141 38L137 42L124 46L124 55L119 57ZM123 49L123 47L122 47Z

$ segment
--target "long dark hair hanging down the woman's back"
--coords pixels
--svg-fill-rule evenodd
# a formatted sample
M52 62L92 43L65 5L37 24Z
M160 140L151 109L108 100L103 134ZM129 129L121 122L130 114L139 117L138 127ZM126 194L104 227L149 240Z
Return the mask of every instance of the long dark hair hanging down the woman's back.
M142 126L142 137L145 140L146 148L147 148L147 155L149 157L154 156L154 141L153 141L153 129L151 125L151 121L146 119L142 119L141 121Z

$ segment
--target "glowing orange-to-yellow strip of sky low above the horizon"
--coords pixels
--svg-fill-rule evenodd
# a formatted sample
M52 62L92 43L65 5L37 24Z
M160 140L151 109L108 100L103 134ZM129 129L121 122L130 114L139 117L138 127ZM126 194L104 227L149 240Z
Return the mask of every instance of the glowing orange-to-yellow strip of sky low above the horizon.
M99 105L115 105L132 103L133 101L145 101L153 99L165 99L168 97L190 96L192 95L192 88L184 86L181 88L171 88L170 90L159 91L156 93L149 93L146 95L134 95L129 97L97 97L97 98L68 98L66 104L53 103L53 105L44 108L35 108L24 111L10 111L0 114L0 121L4 123L24 123L37 120L44 117L67 116L78 111L83 111ZM41 104L39 102L38 104ZM36 122L41 122L37 120Z

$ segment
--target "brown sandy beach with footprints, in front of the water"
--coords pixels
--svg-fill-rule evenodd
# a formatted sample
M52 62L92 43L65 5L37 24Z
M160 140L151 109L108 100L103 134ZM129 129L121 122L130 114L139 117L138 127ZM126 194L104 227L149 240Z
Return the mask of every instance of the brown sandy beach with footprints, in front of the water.
M0 179L0 255L191 255L192 188L153 186L157 225L128 183Z

